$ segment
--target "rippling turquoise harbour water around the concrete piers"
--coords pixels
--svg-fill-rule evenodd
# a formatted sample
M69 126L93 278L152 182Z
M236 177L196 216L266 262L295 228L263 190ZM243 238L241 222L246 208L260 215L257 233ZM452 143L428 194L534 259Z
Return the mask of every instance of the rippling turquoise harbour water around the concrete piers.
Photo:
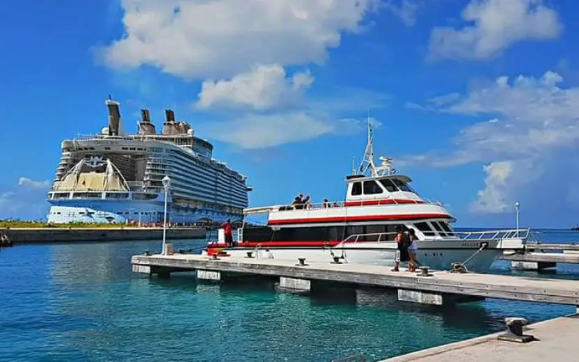
M552 242L578 233L546 231ZM177 242L177 248L203 241ZM269 282L199 284L132 274L130 256L161 242L16 246L0 251L0 361L368 361L482 336L513 315L571 306L489 299L441 310L383 290L301 296ZM496 272L509 273L498 262ZM531 276L579 278L579 267Z

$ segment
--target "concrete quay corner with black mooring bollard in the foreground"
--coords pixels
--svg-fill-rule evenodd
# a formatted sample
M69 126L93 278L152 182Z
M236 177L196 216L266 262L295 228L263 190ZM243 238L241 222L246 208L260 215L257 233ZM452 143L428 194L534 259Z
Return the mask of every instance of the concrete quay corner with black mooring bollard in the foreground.
M544 362L575 361L579 353L579 316L560 317L530 324L524 333L537 340L516 343L498 340L504 332L463 340L449 345L424 349L419 352L386 359L381 362Z

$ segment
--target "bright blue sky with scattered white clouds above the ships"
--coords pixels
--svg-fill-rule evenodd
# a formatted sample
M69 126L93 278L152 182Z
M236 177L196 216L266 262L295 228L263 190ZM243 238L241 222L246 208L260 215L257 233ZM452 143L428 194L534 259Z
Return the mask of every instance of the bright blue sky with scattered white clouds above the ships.
M457 226L579 223L579 2L3 3L0 218L40 219L61 141L174 109L251 205L343 200L366 120ZM31 11L34 9L34 11Z

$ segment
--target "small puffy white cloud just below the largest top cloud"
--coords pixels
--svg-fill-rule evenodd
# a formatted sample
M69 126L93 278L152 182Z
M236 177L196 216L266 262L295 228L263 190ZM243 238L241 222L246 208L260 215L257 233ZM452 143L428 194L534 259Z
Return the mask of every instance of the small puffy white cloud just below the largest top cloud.
M309 71L286 77L281 65L260 65L230 80L204 81L196 107L272 109L299 104L313 81Z

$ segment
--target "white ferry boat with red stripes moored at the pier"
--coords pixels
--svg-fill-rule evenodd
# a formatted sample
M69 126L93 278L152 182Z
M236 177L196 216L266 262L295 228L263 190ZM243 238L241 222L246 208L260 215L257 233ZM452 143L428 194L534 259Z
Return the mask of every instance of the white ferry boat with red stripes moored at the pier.
M346 177L344 201L246 208L245 221L265 214L267 224L245 222L232 247L224 244L221 233L204 253L391 266L397 226L415 230L418 262L431 269L488 272L503 251L523 249L529 230L458 233L454 217L441 203L421 198L410 186L411 178L396 174L392 159L380 159L375 166L369 122L363 162L358 173Z

